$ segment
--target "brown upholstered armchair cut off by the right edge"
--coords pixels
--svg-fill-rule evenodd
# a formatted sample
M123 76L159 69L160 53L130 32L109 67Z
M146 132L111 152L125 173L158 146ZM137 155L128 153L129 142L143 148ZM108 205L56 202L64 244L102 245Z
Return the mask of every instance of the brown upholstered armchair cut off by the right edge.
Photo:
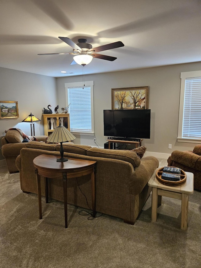
M192 172L194 174L194 189L201 190L201 145L196 145L193 151L173 151L167 163L168 166Z

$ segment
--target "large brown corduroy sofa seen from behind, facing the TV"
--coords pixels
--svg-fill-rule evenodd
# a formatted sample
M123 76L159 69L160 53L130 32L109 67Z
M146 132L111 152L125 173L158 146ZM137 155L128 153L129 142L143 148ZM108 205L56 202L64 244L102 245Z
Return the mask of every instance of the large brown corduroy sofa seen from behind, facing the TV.
M136 152L91 148L86 145L64 145L64 157L96 161L96 211L134 224L151 189L148 181L159 162L153 156L142 159ZM33 159L41 154L60 156L60 145L29 142L20 151L16 166L20 172L23 192L37 194ZM44 178L41 192L45 195ZM49 187L50 186L50 187ZM49 197L63 201L61 179L49 179ZM86 198L85 198L85 196ZM68 179L68 203L85 209L92 208L90 175Z

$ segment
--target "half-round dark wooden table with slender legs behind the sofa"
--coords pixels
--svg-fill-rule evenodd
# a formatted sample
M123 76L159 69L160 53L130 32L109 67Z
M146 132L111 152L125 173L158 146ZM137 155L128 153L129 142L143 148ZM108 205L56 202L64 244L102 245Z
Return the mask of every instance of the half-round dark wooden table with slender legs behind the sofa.
M66 162L57 162L58 156L40 155L33 160L36 168L37 187L38 187L38 206L39 219L42 219L41 206L41 176L45 177L45 197L48 203L48 180L47 178L63 179L63 198L64 198L64 214L65 228L68 227L67 217L67 179L81 177L91 174L91 196L92 196L92 216L95 217L95 165L96 161L88 161L83 159L68 158Z

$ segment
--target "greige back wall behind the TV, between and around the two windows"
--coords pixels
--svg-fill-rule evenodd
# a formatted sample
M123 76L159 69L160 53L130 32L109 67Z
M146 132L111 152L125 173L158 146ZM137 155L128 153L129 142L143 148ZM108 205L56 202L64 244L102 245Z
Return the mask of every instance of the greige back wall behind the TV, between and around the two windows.
M78 66L79 67L79 66ZM81 67L80 67L81 68ZM87 66L85 66L87 68ZM85 81L94 80L95 137L100 147L103 135L103 110L111 109L111 88L149 86L151 109L151 137L142 144L149 152L171 154L173 150L192 150L193 143L177 142L180 98L180 73L200 70L198 63L186 63L154 68L85 75ZM65 83L82 81L82 76L57 78L58 102L65 107ZM76 143L95 145L94 136L76 136ZM168 149L172 144L172 149Z

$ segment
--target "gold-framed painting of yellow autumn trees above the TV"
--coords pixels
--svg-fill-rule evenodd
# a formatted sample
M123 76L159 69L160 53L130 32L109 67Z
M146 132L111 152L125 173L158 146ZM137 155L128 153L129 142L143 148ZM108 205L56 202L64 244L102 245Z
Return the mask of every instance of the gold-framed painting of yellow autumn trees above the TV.
M149 86L112 88L112 110L148 109Z

